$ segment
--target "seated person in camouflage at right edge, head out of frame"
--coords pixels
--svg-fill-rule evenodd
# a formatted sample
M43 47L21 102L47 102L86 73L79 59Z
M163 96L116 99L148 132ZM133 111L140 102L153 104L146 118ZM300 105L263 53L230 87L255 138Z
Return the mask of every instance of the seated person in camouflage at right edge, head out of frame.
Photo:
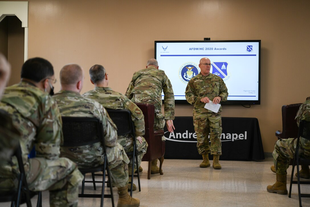
M297 125L300 120L310 121L310 100L306 100L297 112L295 117ZM267 186L267 191L270 193L287 194L286 188L286 170L290 166L290 159L294 158L296 151L297 138L277 140L272 152L274 168L277 173L277 181L272 186ZM299 139L299 156L310 158L310 141L300 137Z

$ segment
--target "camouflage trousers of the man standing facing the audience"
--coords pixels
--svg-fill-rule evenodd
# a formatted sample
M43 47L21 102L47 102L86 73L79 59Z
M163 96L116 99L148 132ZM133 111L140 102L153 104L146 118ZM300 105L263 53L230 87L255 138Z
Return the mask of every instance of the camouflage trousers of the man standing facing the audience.
M194 113L194 129L199 154L222 154L222 119L220 113ZM209 144L209 134L211 147Z

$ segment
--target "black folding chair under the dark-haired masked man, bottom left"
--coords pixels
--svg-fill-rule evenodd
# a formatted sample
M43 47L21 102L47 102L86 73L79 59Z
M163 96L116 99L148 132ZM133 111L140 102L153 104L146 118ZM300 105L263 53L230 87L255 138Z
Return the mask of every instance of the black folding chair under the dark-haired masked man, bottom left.
M8 202L11 201L11 207L12 206L20 206L21 203L24 202L27 204L27 207L31 207L30 202L30 191L28 189L28 184L26 180L26 174L24 170L24 163L22 160L22 153L20 149L20 145L17 145L17 148L15 150L14 156L16 156L18 167L20 174L18 176L18 186L15 191L10 191L7 193L3 193L0 195L0 202ZM21 199L23 197L23 199Z

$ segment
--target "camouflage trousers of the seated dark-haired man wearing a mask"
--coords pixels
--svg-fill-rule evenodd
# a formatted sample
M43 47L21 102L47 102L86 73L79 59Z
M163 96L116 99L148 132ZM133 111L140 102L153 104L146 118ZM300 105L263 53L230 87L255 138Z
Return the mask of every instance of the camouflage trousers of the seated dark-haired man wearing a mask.
M77 165L67 158L29 159L27 182L31 191L50 191L50 206L77 206L78 185L83 175ZM17 186L17 179L0 179L1 189Z

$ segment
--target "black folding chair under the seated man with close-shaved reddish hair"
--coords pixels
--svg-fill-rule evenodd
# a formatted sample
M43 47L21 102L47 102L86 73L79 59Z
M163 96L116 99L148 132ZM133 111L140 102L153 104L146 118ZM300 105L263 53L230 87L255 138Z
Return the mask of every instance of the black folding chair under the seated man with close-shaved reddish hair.
M104 164L95 168L79 168L81 173L84 175L84 180L82 182L82 193L79 194L79 197L82 198L101 198L100 206L103 206L104 197L111 198L112 206L114 207L114 198L113 198L113 189L111 184L111 173L108 168L108 159L106 155L106 146L104 144L104 133L103 126L99 119L95 117L62 117L63 122L63 134L64 134L64 147L76 147L76 146L84 146L91 145L97 142L101 142L104 149ZM96 181L98 183L102 183L102 191L101 194L84 194L84 184L85 182L85 174L86 173L95 173L102 172L102 182ZM105 175L107 172L108 181L110 184L110 194L104 194L104 183L105 183ZM93 182L94 182L93 177ZM94 182L95 186L95 182Z

